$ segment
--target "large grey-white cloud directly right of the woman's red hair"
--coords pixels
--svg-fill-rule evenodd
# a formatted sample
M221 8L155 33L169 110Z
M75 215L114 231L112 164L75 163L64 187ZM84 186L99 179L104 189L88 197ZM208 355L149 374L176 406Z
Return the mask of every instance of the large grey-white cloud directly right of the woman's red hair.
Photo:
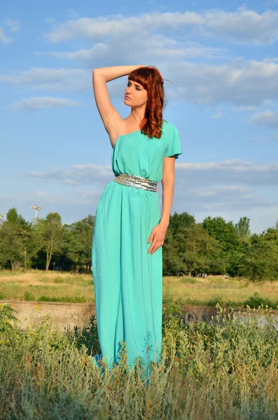
M163 76L174 83L168 97L198 104L260 106L265 99L278 99L278 64L235 59L211 65L174 62L160 66ZM167 85L165 85L167 88Z

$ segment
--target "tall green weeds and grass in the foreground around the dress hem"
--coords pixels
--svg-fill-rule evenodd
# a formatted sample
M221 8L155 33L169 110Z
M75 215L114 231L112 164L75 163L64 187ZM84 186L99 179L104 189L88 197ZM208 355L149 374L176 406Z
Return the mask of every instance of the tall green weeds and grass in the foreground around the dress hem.
M111 372L96 369L95 319L85 330L20 330L0 310L1 419L264 420L278 418L278 335L270 314L244 321L218 307L211 323L163 315L162 359L150 376L126 351Z

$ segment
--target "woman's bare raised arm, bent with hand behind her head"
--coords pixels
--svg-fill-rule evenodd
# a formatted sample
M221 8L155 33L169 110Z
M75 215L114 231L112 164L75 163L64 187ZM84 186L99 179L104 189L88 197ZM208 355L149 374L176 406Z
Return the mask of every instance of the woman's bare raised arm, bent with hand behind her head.
M95 102L108 133L117 123L120 123L122 118L111 104L106 83L121 76L127 76L131 71L139 67L141 66L110 66L100 67L92 71L92 86L94 88Z

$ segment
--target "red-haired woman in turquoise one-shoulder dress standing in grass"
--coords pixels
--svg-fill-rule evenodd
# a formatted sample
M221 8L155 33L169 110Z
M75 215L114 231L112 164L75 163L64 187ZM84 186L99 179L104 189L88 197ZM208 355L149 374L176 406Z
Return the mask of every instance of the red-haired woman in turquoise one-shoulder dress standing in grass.
M122 118L106 83L127 76ZM97 330L103 359L113 367L125 342L127 363L159 362L162 344L162 244L174 194L174 163L181 155L179 132L162 120L163 78L153 66L95 69L97 109L109 134L110 181L97 204L92 239L92 275ZM162 181L162 215L157 184Z

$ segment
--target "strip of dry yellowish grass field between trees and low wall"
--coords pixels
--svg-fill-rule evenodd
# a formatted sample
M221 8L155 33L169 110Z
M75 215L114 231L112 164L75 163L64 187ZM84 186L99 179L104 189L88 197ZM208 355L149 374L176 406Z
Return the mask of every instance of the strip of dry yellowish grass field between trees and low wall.
M164 302L181 304L231 305L242 307L244 302L258 293L276 307L278 304L278 281L253 283L239 279L224 279L223 276L163 277ZM267 301L267 299L269 301ZM0 300L38 300L54 302L94 302L91 274L60 272L0 271Z

